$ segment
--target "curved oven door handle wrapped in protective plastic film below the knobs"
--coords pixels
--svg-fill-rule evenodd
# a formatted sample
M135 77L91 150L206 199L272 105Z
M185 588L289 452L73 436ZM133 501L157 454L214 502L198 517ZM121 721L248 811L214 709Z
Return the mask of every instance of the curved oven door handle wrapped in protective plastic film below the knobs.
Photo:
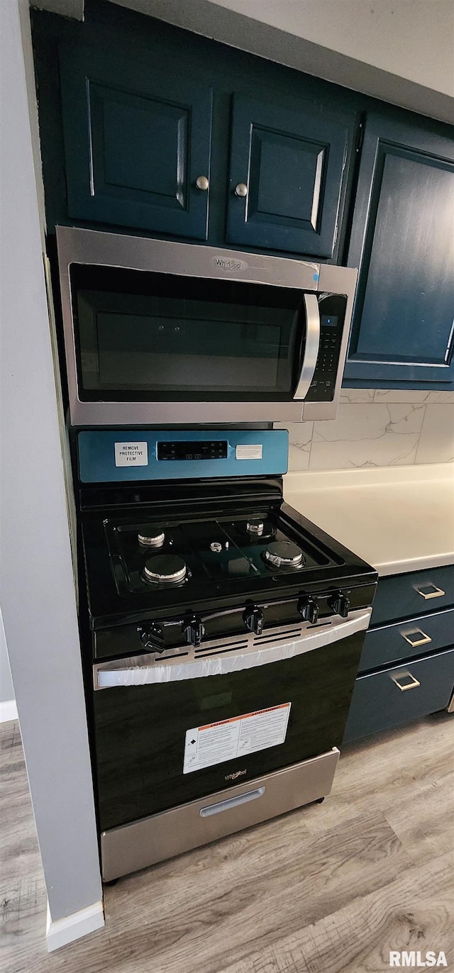
M268 666L270 663L292 659L305 652L321 649L323 645L331 645L342 638L348 638L357 631L368 628L371 608L352 611L346 619L339 619L333 625L322 624L307 629L300 638L288 642L273 644L266 643L263 636L260 643L251 645L249 649L232 655L214 653L201 659L196 657L190 662L152 663L149 655L132 656L130 659L116 660L110 663L98 663L94 666L95 690L112 689L117 686L148 686L152 683L181 682L184 679L203 679L208 675L225 675L228 672L240 672L242 669L257 666Z

